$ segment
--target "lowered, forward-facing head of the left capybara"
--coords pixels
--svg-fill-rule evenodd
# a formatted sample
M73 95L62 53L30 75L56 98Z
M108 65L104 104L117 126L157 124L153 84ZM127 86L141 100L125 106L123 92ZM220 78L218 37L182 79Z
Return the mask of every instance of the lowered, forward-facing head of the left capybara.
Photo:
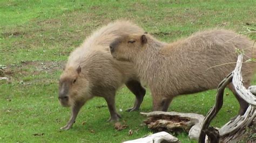
M65 68L59 79L59 103L62 106L68 107L74 104L78 94L78 85L81 82L79 79L81 67Z

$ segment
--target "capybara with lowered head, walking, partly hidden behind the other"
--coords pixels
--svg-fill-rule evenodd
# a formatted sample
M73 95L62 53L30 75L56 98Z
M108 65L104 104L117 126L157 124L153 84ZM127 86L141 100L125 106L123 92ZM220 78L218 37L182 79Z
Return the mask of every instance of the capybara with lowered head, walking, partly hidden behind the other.
M114 60L109 52L110 42L124 34L141 33L142 28L128 21L117 21L94 32L69 56L59 79L59 102L71 106L71 118L61 129L68 130L75 123L80 108L89 99L104 97L110 112L109 120L118 120L114 97L125 84L136 96L133 108L138 110L145 95L132 63Z

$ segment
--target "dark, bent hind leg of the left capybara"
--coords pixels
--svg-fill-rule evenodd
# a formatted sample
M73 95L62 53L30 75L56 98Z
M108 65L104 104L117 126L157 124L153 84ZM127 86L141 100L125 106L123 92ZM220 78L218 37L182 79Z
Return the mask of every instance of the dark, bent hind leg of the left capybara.
M127 112L139 110L140 104L142 104L143 98L146 94L145 88L142 87L139 81L129 81L125 83L126 87L132 91L132 93L136 96L134 105L132 108L127 109Z

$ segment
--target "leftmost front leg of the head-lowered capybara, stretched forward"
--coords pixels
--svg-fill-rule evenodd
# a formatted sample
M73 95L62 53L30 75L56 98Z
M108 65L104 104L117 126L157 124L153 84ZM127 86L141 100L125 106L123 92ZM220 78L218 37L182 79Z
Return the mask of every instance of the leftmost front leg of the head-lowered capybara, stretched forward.
M85 102L76 102L75 105L71 106L71 117L68 121L68 123L64 126L61 127L61 130L69 130L72 125L75 123L77 115L79 110L82 108Z

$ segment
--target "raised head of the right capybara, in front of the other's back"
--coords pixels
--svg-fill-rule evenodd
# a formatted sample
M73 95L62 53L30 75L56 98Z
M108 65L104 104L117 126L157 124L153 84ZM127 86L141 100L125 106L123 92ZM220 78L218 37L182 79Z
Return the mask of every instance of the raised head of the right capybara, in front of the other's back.
M109 48L113 58L121 61L132 61L132 57L145 49L147 37L145 34L123 35L114 40Z

